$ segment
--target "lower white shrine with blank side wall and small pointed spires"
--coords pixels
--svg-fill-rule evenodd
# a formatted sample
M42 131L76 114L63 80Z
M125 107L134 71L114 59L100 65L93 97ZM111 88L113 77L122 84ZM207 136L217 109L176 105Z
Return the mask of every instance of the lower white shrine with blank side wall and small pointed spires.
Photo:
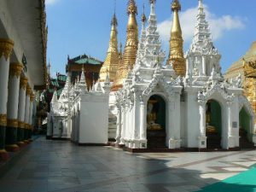
M79 145L108 143L108 77L102 87L94 84L87 90L84 69L74 85L69 77L59 100L54 93L48 117L47 135L71 139Z

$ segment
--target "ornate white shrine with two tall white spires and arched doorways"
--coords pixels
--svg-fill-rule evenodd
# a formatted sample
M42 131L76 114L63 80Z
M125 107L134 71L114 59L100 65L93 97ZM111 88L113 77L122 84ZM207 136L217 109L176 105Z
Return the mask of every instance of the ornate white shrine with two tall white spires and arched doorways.
M241 108L250 126L247 137L255 143L253 110L242 95L240 77L224 81L201 1L184 78L176 77L172 65L163 65L160 47L151 3L136 65L116 92L116 143L127 148L237 148Z

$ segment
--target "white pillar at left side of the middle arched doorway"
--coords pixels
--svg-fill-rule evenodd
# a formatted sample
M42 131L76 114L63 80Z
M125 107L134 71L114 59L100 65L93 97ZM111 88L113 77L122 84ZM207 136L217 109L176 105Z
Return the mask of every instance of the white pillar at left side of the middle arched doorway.
M206 107L207 102L199 101L199 113L200 113L200 136L198 137L198 148L207 148L207 122L206 122Z

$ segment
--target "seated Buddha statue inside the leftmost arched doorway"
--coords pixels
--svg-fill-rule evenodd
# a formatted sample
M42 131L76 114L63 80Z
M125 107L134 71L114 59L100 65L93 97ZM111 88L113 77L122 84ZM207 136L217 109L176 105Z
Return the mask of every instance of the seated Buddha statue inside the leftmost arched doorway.
M157 104L156 100L148 101L147 108L147 129L151 131L162 130L161 125L155 123L157 119L157 112L154 110L154 104Z

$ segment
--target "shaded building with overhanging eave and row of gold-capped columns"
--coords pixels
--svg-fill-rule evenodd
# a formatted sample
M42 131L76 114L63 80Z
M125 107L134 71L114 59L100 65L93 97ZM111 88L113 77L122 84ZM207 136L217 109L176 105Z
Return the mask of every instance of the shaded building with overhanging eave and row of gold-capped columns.
M44 0L0 2L0 160L31 140L34 97L46 87Z

